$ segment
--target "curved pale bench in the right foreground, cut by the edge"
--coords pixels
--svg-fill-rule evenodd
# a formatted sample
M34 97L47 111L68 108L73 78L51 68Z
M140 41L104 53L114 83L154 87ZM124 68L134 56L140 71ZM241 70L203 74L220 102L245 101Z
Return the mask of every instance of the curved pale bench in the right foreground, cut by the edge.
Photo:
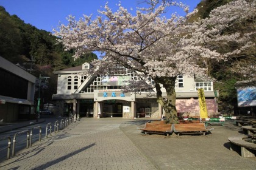
M247 137L229 137L230 151L241 150L241 157L255 157L256 144L245 141L244 138Z

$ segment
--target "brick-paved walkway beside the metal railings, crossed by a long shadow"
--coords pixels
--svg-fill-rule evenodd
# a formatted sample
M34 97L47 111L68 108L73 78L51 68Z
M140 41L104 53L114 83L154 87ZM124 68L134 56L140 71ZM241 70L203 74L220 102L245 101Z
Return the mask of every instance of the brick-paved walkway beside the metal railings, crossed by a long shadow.
M0 169L156 169L119 129L124 120L85 118L0 164Z

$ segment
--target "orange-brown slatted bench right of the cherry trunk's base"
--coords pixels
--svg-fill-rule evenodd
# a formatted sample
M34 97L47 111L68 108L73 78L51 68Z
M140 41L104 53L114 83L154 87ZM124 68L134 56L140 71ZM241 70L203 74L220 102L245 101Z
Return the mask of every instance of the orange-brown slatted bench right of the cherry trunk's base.
M173 131L177 134L206 134L213 128L204 123L174 124Z

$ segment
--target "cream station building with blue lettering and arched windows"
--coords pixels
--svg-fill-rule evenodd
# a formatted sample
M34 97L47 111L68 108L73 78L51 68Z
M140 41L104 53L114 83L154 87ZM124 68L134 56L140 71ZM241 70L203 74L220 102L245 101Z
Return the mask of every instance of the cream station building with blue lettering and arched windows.
M127 92L121 86L127 86L127 80L139 80L140 76L124 67L112 72L107 77L85 76L82 72L91 69L89 63L54 72L58 75L56 101L57 116L80 114L80 117L123 117L123 118L162 118L165 112L155 97L156 91ZM151 81L151 80L147 80ZM154 82L153 82L154 83ZM213 83L196 80L180 75L176 81L176 107L179 115L199 115L197 89L203 88L208 113L218 112ZM166 96L163 89L163 97Z

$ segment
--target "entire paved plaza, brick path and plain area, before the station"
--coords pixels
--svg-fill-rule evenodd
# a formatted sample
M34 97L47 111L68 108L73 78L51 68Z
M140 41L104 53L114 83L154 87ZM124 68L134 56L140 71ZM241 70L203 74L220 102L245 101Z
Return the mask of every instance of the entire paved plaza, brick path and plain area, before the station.
M227 137L243 135L233 124L212 134L143 135L146 120L82 118L58 134L34 143L0 169L256 169L256 158L229 151Z

